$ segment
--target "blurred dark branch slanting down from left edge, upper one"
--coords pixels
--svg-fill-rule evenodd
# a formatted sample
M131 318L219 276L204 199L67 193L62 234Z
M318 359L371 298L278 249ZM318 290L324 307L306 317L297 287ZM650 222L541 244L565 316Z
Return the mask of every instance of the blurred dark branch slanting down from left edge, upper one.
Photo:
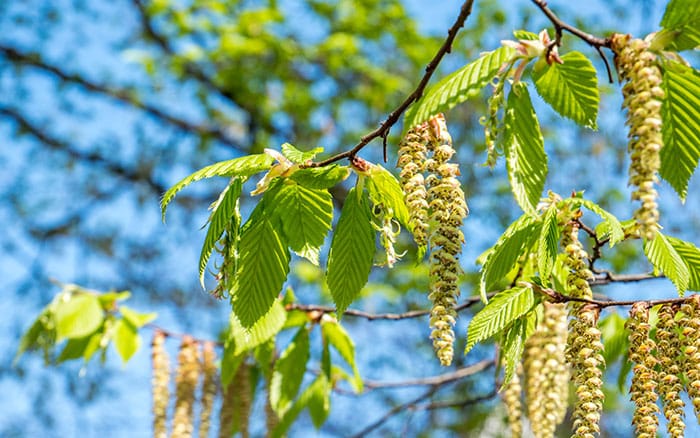
M175 126L183 131L201 137L213 137L229 146L239 148L239 145L236 142L234 142L228 135L226 135L226 133L221 129L213 126L198 125L185 119L181 119L179 117L168 114L160 108L157 108L138 99L136 97L136 93L132 90L117 89L104 84L92 82L84 78L83 76L65 72L64 70L61 70L55 65L47 63L46 61L42 60L41 57L37 54L23 53L12 47L0 46L0 55L4 56L11 62L15 62L20 65L28 65L43 70L64 82L76 84L93 93L101 94L112 100L116 100L120 103L124 103L134 108L138 108L150 114L151 116L163 122L166 122L172 126Z

